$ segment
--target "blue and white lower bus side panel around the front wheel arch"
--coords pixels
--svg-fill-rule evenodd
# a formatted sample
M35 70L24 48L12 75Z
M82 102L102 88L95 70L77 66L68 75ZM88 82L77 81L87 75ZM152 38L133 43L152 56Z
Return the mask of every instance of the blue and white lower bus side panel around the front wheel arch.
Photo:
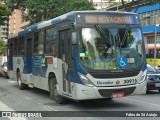
M74 86L74 88L72 88L71 93L69 93L69 87L68 87L69 85L64 84L64 81L63 81L62 64L64 62L62 62L61 59L58 59L53 56L39 57L39 61L43 61L44 58L45 58L45 63L41 62L40 64L37 64L38 63L37 58L36 58L36 61L34 60L33 62L34 64L33 79L35 81L34 87L49 91L49 83L48 83L49 74L53 73L56 76L56 80L59 87L59 93L61 95L67 95L70 98L75 98L74 96L75 92L73 92L75 91L75 85L74 85L75 83L74 82L70 83L70 85ZM67 67L67 65L65 65L65 67ZM73 77L71 77L71 79L73 79ZM66 86L65 91L64 91L64 86Z

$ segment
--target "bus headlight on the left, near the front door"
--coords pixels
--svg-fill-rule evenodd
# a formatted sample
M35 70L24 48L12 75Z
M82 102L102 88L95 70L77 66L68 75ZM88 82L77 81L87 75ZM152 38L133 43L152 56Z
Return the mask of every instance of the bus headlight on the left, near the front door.
M94 84L83 74L81 73L78 73L79 74L79 77L80 79L82 80L83 84L88 86L88 87L93 87Z

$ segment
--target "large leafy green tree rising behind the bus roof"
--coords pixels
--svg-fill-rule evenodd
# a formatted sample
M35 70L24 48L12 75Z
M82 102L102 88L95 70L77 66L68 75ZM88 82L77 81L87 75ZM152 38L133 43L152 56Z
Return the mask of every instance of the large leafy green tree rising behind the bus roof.
M20 8L23 19L32 23L48 20L73 10L93 10L88 0L6 0L11 9Z

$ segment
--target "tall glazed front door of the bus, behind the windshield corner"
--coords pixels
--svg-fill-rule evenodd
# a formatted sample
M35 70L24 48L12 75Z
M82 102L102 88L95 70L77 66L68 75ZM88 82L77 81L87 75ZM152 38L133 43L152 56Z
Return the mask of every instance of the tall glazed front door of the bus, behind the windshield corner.
M71 93L70 87L70 61L71 61L71 30L60 31L60 58L62 59L63 92Z

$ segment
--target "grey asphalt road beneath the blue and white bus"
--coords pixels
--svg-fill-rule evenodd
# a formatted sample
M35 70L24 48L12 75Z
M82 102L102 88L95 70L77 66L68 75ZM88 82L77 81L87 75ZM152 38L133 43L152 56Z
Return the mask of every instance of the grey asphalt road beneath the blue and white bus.
M58 112L62 114L62 117L34 118L34 120L74 120L75 118L77 120L159 120L160 117L156 117L154 111L158 111L160 115L160 94L158 91L150 91L146 95L127 96L111 101L69 101L67 104L59 105L49 98L49 93L46 91L36 88L19 90L16 81L0 78L0 111L52 111L53 113L50 114L52 116L58 115ZM93 113L85 111L93 111ZM133 111L138 112L140 117L134 117L136 113ZM151 117L142 117L143 114L146 115L144 111L147 111ZM78 117L72 117L77 114ZM104 117L107 114L117 117ZM120 117L118 114L125 114L127 117ZM65 117L68 115L70 117ZM81 115L86 117L80 117ZM1 119L32 120L33 118L22 116L21 118L1 117Z

